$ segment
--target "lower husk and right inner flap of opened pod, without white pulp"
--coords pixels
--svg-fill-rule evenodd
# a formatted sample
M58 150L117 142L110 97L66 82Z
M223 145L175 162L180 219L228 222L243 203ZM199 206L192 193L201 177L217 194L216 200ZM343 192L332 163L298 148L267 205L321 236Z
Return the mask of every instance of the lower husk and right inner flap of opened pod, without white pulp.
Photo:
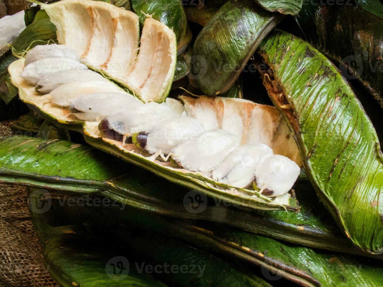
M60 124L69 130L82 132L85 140L90 145L118 155L182 186L190 189L200 189L210 196L229 202L255 209L287 208L296 210L297 205L293 198L287 198L283 202L283 205L286 205L284 207L280 202L274 202L273 199L265 197L257 191L219 183L211 179L210 174L185 170L179 166L174 167L168 161L157 159L155 156L149 157L147 154L143 154L134 144L125 144L126 141L123 144L117 140L102 137L97 121L79 121L75 114L69 113L67 108L60 108L52 103L51 95L37 93L33 85L28 84L20 77L23 69L24 59L13 62L9 68L12 82L19 88L20 98L49 121ZM132 97L128 93L125 96ZM197 121L200 121L206 130L222 129L225 132L230 132L237 137L238 142L241 144L266 143L272 147L274 153L282 154L301 165L300 158L297 156L299 152L290 136L290 130L287 129L285 122L275 108L236 98L218 97L211 99L200 97L199 99L193 99L183 96L181 99L182 101L168 99L166 103L162 104L148 103L142 105L167 105L179 116L185 109L186 116L194 117ZM84 112L85 110L82 110L82 113ZM206 120L199 118L199 115L203 113L209 115Z

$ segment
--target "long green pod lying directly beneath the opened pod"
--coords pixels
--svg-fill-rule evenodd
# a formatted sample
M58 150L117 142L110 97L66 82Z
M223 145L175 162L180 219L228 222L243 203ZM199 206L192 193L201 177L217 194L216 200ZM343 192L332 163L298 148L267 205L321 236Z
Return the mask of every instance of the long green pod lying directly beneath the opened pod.
M157 178L149 171L87 146L15 136L0 140L0 181L71 191L79 196L99 194L120 204L170 217L222 222L299 245L383 258L361 251L342 236L321 203L313 200L315 195L304 180L296 186L302 190L298 194L300 212L249 212L205 196L206 206L202 206L201 212L192 213L184 204L191 201L189 197L197 201L198 194ZM118 216L121 221L129 217L123 211Z

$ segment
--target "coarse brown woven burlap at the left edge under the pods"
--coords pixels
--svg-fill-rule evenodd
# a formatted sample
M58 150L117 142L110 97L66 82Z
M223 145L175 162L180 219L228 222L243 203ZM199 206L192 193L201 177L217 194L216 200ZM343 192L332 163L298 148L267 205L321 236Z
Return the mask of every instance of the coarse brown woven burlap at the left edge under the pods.
M10 134L10 121L0 122L0 137ZM0 183L0 287L59 286L43 264L34 232L26 187Z

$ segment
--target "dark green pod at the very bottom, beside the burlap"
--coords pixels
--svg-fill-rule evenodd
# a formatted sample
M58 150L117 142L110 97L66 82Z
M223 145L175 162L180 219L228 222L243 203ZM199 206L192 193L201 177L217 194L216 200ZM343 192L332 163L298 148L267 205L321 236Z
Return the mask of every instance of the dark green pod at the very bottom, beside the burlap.
M51 212L42 212L39 203L41 195L36 189L29 192L29 211L43 245L44 263L63 286L176 284L186 287L227 284L270 287L244 264L219 258L174 238L159 238L137 228L85 228L87 224L80 222L52 226L49 222L54 216L59 216L55 212L63 210L52 207L49 209ZM62 219L65 219L65 215L62 215ZM146 269L147 265L152 266L154 272L146 271L149 270ZM163 266L163 269L156 269L157 265ZM183 271L185 266L189 272Z

